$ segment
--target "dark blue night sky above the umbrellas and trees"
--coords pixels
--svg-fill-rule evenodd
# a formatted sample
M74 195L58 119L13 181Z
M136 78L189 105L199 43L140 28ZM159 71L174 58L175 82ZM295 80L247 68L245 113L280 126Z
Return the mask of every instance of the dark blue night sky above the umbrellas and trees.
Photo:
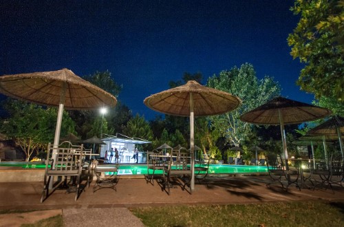
M71 69L109 70L123 85L118 99L147 120L144 98L181 80L206 78L243 63L275 77L282 95L310 103L295 85L288 34L299 18L292 0L0 1L0 75Z

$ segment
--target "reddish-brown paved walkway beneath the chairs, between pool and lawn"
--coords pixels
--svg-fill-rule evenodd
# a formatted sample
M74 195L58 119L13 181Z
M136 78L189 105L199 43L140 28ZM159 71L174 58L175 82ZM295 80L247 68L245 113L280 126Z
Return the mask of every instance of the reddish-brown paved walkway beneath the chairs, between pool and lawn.
M103 188L93 193L91 184L76 202L74 193L55 191L43 204L40 202L43 182L6 182L0 183L0 210L49 210L47 213L59 210L63 214L65 226L78 226L79 222L82 223L80 226L114 226L116 223L117 226L143 226L127 208L308 200L344 202L344 188L340 186L334 186L334 191L312 191L308 188L299 191L290 186L286 192L279 184L267 187L267 182L270 182L267 176L208 177L205 182L195 185L192 195L180 188L172 188L171 195L167 195L156 182L153 186L142 178L120 178L117 191ZM8 217L0 215L0 226L10 226L6 225Z

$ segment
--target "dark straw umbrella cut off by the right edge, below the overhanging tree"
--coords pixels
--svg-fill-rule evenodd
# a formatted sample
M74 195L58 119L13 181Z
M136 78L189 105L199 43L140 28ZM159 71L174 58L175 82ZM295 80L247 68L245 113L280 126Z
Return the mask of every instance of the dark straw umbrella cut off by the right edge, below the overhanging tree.
M310 136L336 136L338 138L341 155L344 158L342 135L344 133L344 118L341 116L333 116L330 120L323 122L321 125L308 131Z

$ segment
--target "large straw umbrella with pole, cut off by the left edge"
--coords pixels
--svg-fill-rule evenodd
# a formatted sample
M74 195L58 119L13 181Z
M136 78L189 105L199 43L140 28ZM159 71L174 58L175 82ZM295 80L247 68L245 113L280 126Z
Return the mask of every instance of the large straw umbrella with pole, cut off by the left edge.
M117 103L107 91L76 76L69 69L0 76L0 93L39 105L58 107L54 147L58 147L64 108L89 110L114 107Z

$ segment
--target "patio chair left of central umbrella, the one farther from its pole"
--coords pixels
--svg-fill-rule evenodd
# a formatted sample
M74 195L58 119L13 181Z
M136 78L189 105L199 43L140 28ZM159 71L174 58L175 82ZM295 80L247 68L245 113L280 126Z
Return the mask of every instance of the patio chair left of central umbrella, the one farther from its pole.
M144 175L147 184L151 183L154 185L154 179L162 179L164 169L167 166L160 156L162 156L162 152L154 153L147 151L147 175Z

